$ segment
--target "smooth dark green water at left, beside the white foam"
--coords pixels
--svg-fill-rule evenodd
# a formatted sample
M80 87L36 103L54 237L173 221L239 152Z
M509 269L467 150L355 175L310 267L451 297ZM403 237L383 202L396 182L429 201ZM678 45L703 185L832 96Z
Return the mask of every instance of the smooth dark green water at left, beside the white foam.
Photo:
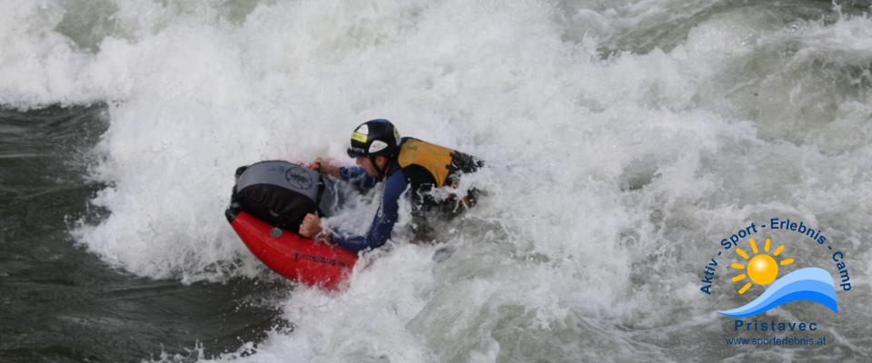
M84 175L104 106L0 111L0 361L197 358L282 326L265 300L283 283L183 285L113 269L75 245L69 227L98 218L101 185Z

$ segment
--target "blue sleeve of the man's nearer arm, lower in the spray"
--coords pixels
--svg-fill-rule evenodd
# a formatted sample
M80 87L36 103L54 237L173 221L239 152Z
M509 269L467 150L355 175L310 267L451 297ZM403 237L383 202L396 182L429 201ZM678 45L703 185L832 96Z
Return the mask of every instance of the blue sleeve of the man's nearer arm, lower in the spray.
M400 209L400 196L408 186L402 172L394 172L384 182L384 191L381 193L381 205L378 213L372 220L370 231L365 236L344 236L338 232L333 236L336 243L346 250L359 252L367 249L381 247L385 241L391 238L393 224L397 222Z

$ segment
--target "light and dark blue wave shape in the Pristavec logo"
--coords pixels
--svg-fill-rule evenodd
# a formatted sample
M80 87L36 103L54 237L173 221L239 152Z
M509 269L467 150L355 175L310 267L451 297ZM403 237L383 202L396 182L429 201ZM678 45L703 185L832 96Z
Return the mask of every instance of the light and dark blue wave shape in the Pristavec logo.
M793 301L813 301L838 312L832 275L817 267L796 270L772 283L757 299L731 310L718 311L730 318L747 318Z

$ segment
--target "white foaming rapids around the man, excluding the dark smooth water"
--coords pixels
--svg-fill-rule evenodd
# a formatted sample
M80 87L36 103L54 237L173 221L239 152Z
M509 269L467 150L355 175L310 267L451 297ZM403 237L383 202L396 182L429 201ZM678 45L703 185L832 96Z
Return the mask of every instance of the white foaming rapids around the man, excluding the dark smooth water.
M816 103L806 83L783 96L867 60L866 18L798 32L743 10L700 20L667 50L603 57L614 44L601 42L665 21L664 9L710 9L580 6L570 14L596 24L567 36L561 26L580 25L555 20L566 9L528 1L267 2L247 16L164 3L114 4L93 52L54 30L61 5L0 11L12 50L0 103L110 104L93 177L110 184L94 204L111 215L74 234L115 266L186 282L255 276L263 267L223 219L234 169L347 160L368 119L489 165L464 181L490 196L448 234L451 256L436 263L438 247L400 232L348 291L297 291L282 305L296 329L241 360L531 360L520 340L547 360L685 360L650 331L707 316L687 284L713 238L777 211L862 240L872 216L869 93ZM794 45L797 63L772 56ZM837 54L836 75L804 78L803 52ZM800 75L747 74L755 61ZM820 113L832 123L767 113L816 104L834 105ZM360 229L372 207L332 222Z

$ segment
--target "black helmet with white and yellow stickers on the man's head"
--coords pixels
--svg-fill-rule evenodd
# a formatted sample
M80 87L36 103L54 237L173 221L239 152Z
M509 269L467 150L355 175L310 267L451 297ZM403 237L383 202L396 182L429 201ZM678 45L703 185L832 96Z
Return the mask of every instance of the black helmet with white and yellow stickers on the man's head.
M384 119L370 120L357 126L352 132L352 145L348 156L387 156L391 158L400 151L400 133L393 123Z

